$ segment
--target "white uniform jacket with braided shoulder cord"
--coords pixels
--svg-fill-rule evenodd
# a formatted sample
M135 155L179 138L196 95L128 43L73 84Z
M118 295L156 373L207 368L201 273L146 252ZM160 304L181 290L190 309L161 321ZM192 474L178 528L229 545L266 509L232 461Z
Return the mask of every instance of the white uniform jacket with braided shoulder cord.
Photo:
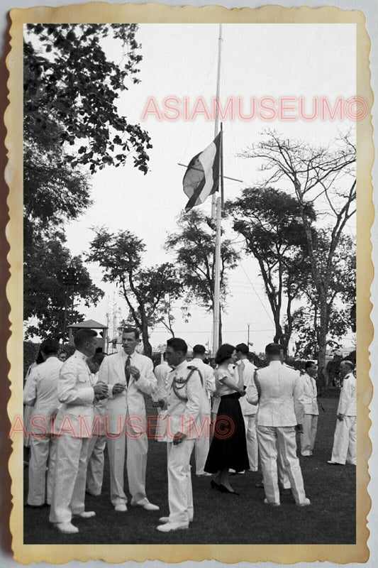
M168 442L172 442L177 432L182 432L189 439L198 437L197 420L204 387L199 372L196 371L192 362L183 361L169 373L167 378L166 436ZM190 377L187 380L189 373Z

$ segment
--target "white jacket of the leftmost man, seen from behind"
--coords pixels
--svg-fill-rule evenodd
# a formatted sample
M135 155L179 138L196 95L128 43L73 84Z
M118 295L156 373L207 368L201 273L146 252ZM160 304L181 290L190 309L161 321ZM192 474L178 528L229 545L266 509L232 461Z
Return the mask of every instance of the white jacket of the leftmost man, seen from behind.
M57 400L57 381L62 364L57 357L48 357L44 363L35 366L26 379L23 403L34 405L30 432L36 435L43 433L38 425L46 428L49 434L51 433L51 419L60 405Z

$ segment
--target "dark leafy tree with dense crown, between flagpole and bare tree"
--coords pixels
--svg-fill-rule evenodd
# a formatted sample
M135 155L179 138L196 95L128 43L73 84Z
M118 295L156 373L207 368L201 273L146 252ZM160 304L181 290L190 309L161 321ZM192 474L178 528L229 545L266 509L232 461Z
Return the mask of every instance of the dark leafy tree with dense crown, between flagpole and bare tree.
M274 342L287 348L292 302L301 293L299 276L311 271L301 209L294 197L272 187L251 187L226 204L233 229L245 239L245 251L257 259L274 318ZM308 216L315 219L311 205ZM282 311L286 304L286 324Z

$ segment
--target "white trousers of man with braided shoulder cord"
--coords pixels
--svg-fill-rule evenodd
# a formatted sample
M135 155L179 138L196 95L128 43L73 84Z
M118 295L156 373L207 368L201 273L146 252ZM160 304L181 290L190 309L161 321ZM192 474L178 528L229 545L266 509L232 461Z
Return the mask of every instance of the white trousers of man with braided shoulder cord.
M194 439L174 446L167 442L169 522L189 523L193 520L193 492L191 489L190 456Z

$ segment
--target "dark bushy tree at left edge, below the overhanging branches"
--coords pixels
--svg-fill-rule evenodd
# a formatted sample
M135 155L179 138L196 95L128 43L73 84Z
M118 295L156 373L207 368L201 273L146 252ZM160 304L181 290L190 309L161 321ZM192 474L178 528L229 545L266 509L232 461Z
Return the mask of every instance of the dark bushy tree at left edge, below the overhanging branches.
M77 272L77 284L67 297L65 273L73 266ZM104 295L93 285L82 258L74 256L59 240L35 243L24 270L24 320L26 338L42 338L54 335L67 339L66 324L81 320L83 315L74 307L74 297L84 301L87 307L96 305ZM68 300L68 310L66 305ZM70 309L70 302L73 308ZM35 320L38 320L35 322Z

